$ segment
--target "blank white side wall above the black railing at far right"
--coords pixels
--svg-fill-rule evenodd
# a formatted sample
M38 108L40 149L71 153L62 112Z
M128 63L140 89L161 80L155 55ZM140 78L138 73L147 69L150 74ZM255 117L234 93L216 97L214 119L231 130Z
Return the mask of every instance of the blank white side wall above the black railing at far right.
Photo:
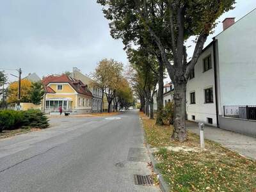
M225 105L256 105L256 10L218 36L220 115Z

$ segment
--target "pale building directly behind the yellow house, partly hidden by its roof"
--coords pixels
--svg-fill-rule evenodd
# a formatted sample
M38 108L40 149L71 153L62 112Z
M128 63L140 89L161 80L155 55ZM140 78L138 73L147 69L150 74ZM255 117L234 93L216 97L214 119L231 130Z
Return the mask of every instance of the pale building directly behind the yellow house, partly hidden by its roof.
M99 113L101 108L101 102L102 102L102 90L99 88L93 88L90 86L92 83L92 79L80 72L80 70L76 67L73 67L73 72L71 76L75 79L79 79L84 84L89 85L89 89L92 92L93 99L92 99L92 113Z

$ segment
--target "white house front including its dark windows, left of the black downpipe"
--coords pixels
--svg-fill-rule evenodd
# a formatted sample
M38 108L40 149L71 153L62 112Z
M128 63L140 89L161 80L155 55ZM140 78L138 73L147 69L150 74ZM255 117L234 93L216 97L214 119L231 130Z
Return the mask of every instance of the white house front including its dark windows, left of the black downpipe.
M198 58L186 91L188 120L217 126L213 44Z

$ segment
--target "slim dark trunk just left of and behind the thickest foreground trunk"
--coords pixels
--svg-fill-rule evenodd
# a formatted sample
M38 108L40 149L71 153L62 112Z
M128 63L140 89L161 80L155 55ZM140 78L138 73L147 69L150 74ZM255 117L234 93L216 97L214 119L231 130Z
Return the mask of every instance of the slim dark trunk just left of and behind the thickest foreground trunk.
M164 91L164 66L163 61L159 58L159 75L158 75L158 94L157 94L157 118L156 124L163 125L163 108L164 108L164 99L163 99L163 91Z

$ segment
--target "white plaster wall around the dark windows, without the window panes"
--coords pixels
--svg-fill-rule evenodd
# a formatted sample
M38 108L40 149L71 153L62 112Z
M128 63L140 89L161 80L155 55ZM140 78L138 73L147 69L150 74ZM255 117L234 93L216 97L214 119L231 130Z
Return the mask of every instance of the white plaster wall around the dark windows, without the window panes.
M203 60L211 54L212 68L204 72ZM205 88L213 90L213 103L205 103ZM190 104L190 93L195 92L195 104ZM216 100L215 100L215 85L214 85L214 54L212 45L202 52L198 62L195 65L195 77L189 79L186 91L186 111L188 120L192 120L192 115L195 115L196 122L204 122L207 124L207 118L212 118L212 125L216 126Z

